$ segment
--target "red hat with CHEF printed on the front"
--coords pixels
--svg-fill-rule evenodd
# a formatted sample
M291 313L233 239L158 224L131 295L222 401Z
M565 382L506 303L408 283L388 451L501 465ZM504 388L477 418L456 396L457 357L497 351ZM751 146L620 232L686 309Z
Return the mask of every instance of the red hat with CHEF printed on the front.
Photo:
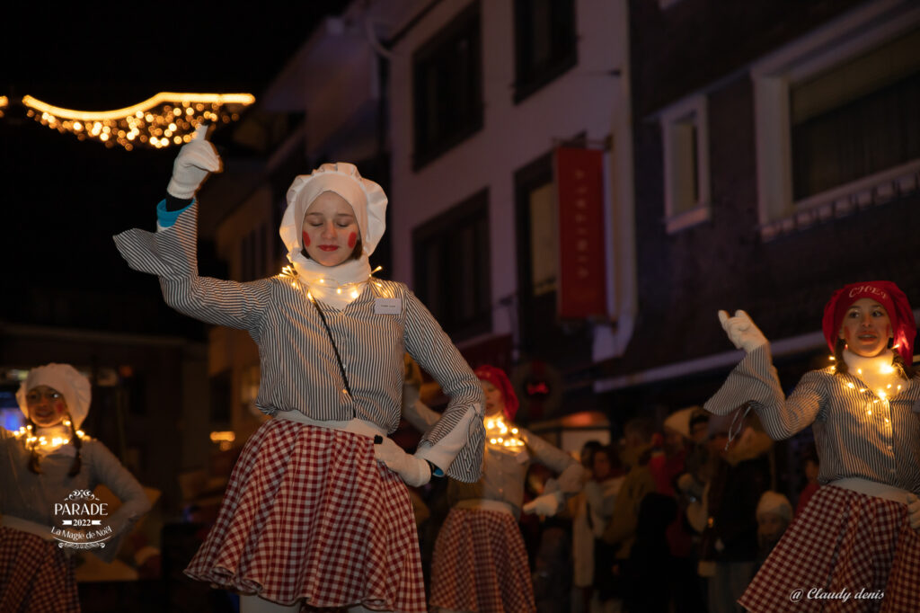
M831 353L834 353L834 345L837 342L840 327L844 323L846 310L860 298L872 298L885 307L888 318L891 320L893 348L901 354L904 364L911 364L914 360L914 337L917 333L914 311L901 288L891 281L850 283L834 292L831 299L824 305L824 318L821 324Z

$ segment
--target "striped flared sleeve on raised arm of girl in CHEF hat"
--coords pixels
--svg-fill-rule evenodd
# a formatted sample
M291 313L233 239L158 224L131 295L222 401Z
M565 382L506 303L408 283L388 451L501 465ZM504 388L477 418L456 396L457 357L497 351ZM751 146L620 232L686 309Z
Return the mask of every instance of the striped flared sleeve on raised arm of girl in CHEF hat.
M766 434L779 441L804 430L818 417L827 403L825 378L821 371L806 373L787 399L766 343L744 356L703 407L727 415L750 402Z

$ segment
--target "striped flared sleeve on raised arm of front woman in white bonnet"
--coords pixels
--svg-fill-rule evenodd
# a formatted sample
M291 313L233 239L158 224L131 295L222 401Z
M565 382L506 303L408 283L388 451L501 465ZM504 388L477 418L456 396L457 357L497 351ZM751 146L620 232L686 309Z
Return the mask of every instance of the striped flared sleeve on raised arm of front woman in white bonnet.
M115 245L135 271L160 277L167 305L206 323L249 330L258 341L262 315L270 302L269 279L236 283L198 276L198 204L160 232L137 228L115 236Z

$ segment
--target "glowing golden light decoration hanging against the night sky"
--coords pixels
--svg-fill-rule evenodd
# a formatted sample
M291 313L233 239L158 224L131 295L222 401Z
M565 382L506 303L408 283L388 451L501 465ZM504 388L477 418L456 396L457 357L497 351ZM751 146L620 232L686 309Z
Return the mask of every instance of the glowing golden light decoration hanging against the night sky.
M191 94L160 92L131 107L86 111L55 107L31 96L22 98L27 114L59 133L74 133L79 140L96 139L107 147L121 145L156 149L182 145L206 121L239 119L239 111L255 101L252 94Z

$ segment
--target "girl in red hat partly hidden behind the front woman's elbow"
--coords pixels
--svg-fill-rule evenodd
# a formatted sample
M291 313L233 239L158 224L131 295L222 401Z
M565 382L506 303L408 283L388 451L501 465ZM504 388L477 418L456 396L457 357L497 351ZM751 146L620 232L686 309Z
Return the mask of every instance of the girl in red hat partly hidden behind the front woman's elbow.
M531 613L534 588L518 517L522 511L555 515L568 496L581 491L584 468L513 424L518 399L504 371L483 365L475 373L486 395L482 478L448 484L452 508L434 545L430 604L436 611ZM411 385L403 391L403 416L420 430L440 417ZM549 486L522 506L524 477L533 462L561 473L558 489Z

